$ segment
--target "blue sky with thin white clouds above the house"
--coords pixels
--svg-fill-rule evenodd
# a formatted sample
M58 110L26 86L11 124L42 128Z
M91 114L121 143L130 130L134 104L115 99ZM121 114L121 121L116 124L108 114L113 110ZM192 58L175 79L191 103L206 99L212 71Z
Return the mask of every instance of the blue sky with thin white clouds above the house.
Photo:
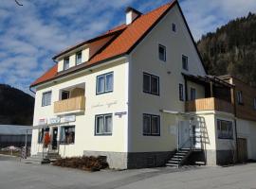
M124 9L141 12L170 0L14 0L0 2L0 83L29 93L29 84L64 48L125 21ZM256 0L180 0L195 40L230 19L256 12Z

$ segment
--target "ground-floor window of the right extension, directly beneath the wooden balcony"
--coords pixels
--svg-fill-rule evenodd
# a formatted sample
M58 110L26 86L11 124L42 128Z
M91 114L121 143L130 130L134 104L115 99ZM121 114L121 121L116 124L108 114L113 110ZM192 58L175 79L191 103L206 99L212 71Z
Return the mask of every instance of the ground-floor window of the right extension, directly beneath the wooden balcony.
M233 139L233 128L231 121L217 120L219 139Z

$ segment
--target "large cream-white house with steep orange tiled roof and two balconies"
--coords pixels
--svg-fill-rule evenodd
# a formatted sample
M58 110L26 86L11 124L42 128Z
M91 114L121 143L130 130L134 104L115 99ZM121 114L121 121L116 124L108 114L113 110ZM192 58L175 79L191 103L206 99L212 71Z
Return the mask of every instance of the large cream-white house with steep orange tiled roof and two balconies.
M115 168L236 157L236 128L244 125L237 126L234 85L206 76L177 1L145 14L128 8L126 24L53 59L57 63L31 84L32 154L43 150L48 131L44 150L106 156ZM242 132L249 158L256 159L255 120L249 123Z

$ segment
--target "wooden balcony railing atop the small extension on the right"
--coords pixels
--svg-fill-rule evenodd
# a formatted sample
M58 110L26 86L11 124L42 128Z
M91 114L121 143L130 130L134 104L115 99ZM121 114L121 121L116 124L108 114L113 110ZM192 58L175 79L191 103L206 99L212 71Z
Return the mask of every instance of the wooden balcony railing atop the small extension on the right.
M234 113L234 108L231 103L218 98L202 98L192 101L187 101L185 105L186 112L199 112L199 111L219 111Z

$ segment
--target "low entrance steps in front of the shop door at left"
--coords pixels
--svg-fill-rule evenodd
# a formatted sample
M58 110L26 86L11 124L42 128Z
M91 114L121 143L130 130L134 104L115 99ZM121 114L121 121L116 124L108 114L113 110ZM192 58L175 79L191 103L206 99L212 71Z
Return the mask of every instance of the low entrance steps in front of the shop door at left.
M22 159L22 162L44 164L44 163L53 163L59 158L61 158L61 156L59 153L56 153L56 152L47 152L44 154L43 152L38 152L36 155L27 157L27 159Z

